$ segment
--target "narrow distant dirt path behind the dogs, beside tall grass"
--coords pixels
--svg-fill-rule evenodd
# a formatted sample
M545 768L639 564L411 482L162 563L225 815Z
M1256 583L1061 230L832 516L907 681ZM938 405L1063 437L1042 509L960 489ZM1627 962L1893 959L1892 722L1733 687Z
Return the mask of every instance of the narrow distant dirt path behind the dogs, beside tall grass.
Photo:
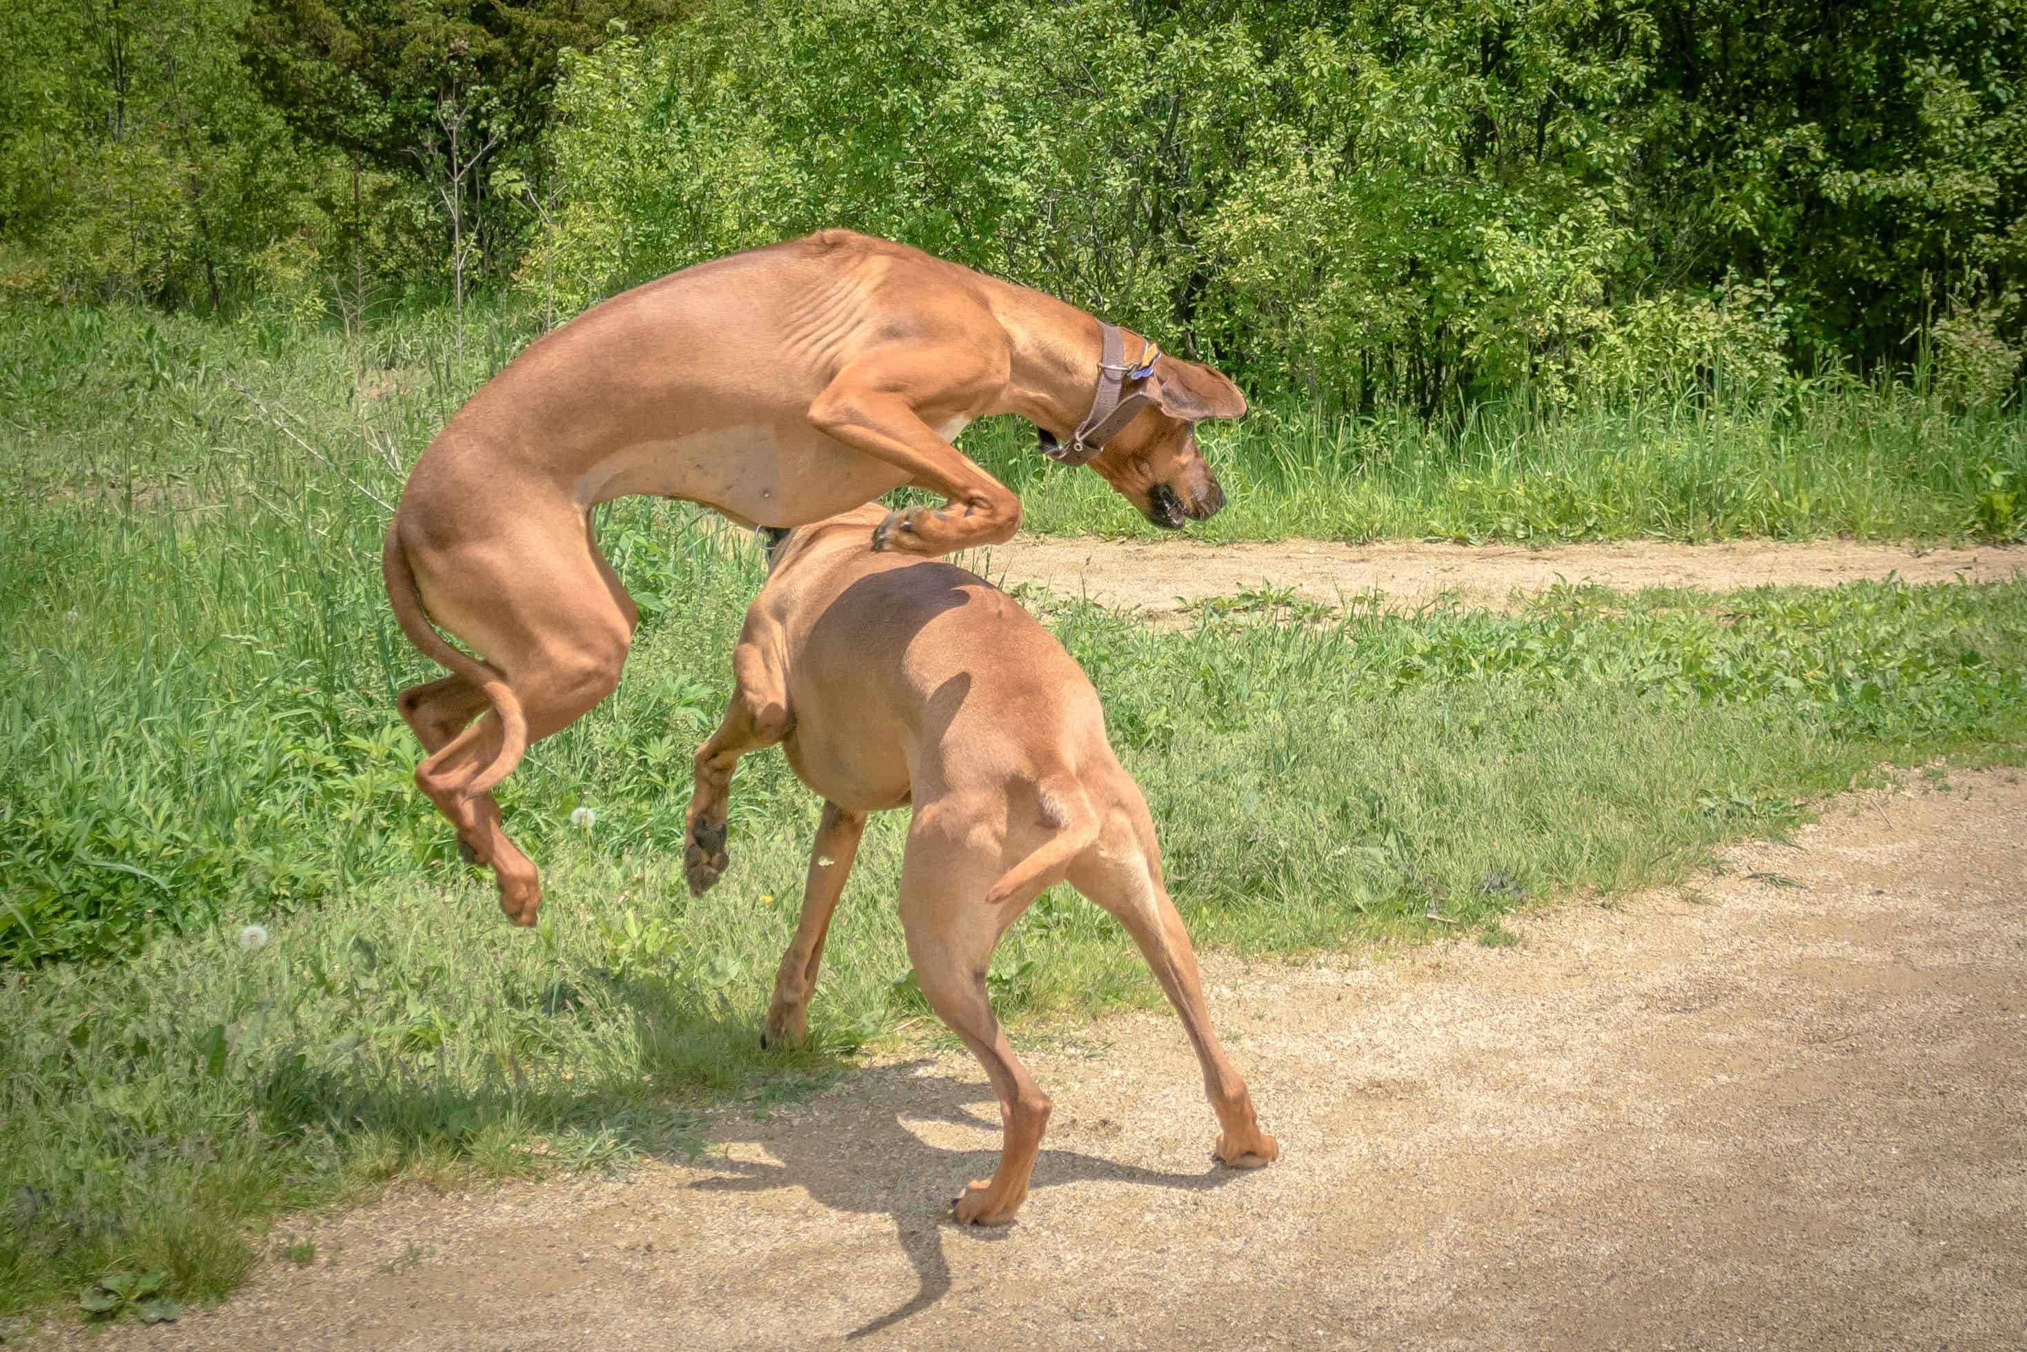
M983 568L981 568L983 564ZM1344 545L1291 539L1279 545L1206 545L1020 537L967 559L995 582L1040 582L1062 596L1088 594L1107 606L1149 612L1178 608L1178 598L1234 596L1261 582L1293 588L1322 602L1382 592L1411 608L1453 592L1459 604L1504 606L1512 592L1538 592L1565 578L1618 590L1650 586L1741 588L1766 582L1828 586L1897 574L1907 582L1978 582L2027 570L2027 551L1924 549L1849 541L1723 545Z

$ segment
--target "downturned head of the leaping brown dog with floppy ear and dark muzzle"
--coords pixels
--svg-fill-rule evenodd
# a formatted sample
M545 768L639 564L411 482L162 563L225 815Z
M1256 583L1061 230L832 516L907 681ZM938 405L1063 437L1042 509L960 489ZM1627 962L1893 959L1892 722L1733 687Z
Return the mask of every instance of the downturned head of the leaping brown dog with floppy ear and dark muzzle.
M1143 517L1166 531L1208 521L1224 507L1224 489L1196 446L1196 424L1243 418L1247 397L1220 371L1161 355L1153 373L1129 381L1149 403L1091 460L1091 468Z

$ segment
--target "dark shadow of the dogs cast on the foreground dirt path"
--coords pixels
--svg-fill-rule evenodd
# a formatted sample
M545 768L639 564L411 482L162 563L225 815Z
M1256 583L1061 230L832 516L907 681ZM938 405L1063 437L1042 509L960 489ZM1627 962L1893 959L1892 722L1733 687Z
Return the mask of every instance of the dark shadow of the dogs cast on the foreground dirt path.
M916 1273L916 1293L896 1309L851 1330L849 1338L866 1338L892 1328L922 1313L949 1293L947 1236L957 1236L959 1243L995 1243L1007 1234L1003 1228L959 1226L949 1204L965 1182L993 1172L993 1166L999 1163L997 1143L989 1149L945 1149L922 1141L906 1125L908 1121L963 1123L985 1127L997 1137L999 1111L971 1107L981 1099L989 1105L991 1088L947 1074L918 1074L924 1064L914 1060L876 1066L853 1076L853 1097L864 1095L878 1105L878 1111L851 1115L849 1121L841 1121L833 1129L811 1131L807 1119L803 1123L758 1121L746 1131L740 1131L740 1123L711 1125L714 1143L754 1143L780 1163L734 1159L716 1149L697 1161L697 1168L716 1172L714 1178L693 1184L705 1192L801 1188L831 1210L884 1214L894 1220L896 1238ZM843 1133L851 1135L849 1155L853 1159L880 1159L886 1161L884 1168L870 1176L868 1170L845 1163L839 1157L841 1151L827 1145ZM1220 1168L1208 1151L1204 1172L1163 1174L1044 1145L1030 1188L1044 1192L1058 1184L1119 1180L1200 1192L1220 1188L1234 1178L1238 1172Z

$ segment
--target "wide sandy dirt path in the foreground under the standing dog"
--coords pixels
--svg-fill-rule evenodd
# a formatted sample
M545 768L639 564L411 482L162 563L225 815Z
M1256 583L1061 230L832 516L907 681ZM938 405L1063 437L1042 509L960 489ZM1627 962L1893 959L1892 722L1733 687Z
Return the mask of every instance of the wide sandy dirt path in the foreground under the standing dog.
M1259 1174L1208 1166L1178 1026L1131 1016L1032 1056L1011 1230L943 1222L995 1111L916 1060L720 1115L695 1166L387 1200L93 1346L2021 1346L2023 823L2019 772L1958 774L1520 947L1212 961Z

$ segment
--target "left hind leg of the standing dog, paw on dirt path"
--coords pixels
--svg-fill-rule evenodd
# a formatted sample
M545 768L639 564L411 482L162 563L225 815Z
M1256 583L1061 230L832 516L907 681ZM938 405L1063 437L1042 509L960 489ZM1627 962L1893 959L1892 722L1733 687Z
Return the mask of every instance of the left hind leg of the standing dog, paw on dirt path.
M918 809L908 831L900 924L922 997L985 1066L1005 1125L999 1168L953 1200L957 1220L1007 1224L1028 1198L1050 1113L1048 1095L1014 1056L985 989L993 949L1022 908L983 904L995 876L991 861L981 857L963 829L941 829L934 817L934 809Z

